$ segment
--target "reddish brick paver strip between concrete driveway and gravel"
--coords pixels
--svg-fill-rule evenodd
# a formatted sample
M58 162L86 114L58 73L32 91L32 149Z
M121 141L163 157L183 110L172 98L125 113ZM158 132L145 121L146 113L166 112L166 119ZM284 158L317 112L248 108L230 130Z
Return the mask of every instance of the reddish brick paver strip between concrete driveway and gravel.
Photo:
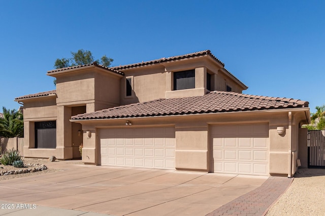
M217 215L265 215L277 198L285 192L294 178L270 177L261 187L238 197L207 214Z

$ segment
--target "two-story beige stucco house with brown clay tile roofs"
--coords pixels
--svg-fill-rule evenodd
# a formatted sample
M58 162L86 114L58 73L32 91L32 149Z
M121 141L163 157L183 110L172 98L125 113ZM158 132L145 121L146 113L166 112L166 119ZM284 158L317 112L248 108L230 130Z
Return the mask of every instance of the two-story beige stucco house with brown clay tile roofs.
M83 144L89 164L291 177L307 151L308 102L242 94L209 50L47 75L56 90L15 99L25 157L78 158Z

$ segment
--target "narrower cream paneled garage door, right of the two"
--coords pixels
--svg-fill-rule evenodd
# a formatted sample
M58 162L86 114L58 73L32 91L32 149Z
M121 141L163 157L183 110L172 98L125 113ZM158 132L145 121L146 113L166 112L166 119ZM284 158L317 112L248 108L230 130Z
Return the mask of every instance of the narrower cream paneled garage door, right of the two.
M267 124L212 126L214 172L268 176Z

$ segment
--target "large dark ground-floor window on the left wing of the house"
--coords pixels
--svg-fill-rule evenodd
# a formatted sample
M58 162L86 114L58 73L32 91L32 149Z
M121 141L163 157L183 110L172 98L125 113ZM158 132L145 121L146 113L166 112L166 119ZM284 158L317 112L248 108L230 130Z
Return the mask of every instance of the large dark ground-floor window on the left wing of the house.
M56 148L56 121L35 122L35 148Z

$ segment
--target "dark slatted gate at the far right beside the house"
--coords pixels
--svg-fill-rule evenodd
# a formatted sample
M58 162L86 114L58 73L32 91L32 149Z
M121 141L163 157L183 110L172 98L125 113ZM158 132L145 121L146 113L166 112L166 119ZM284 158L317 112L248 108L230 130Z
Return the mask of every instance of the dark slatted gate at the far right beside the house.
M325 130L308 131L308 168L325 168Z

